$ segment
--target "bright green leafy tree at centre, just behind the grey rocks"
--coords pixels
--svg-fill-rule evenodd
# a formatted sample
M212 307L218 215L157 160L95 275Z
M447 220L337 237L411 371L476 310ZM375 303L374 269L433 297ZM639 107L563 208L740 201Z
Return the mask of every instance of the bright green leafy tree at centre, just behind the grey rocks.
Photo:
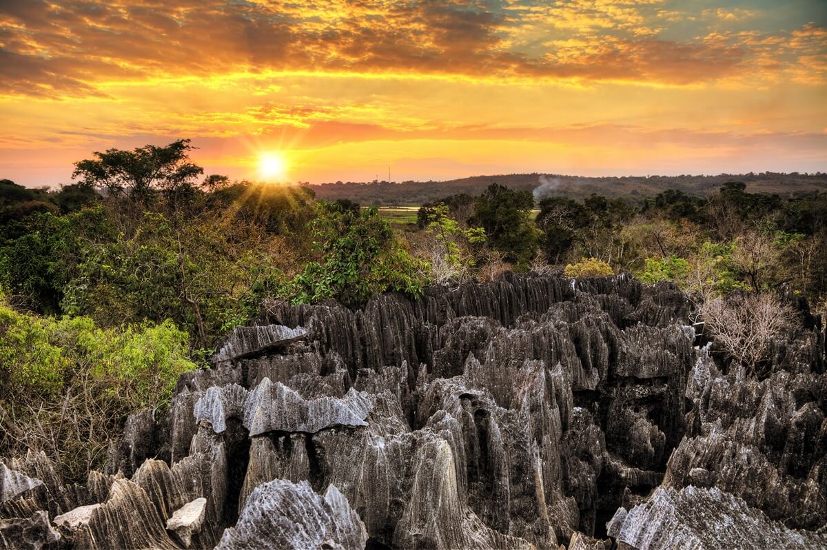
M335 298L356 306L385 290L412 297L422 294L428 266L400 246L390 223L379 217L375 207L354 213L319 203L317 213L311 225L320 257L286 285L283 294L291 302Z

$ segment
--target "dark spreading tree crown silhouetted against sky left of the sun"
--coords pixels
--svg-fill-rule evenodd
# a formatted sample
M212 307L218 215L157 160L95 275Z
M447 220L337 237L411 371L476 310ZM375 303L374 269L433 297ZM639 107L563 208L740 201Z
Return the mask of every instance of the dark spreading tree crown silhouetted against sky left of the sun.
M147 145L132 151L95 151L94 160L74 163L72 179L88 187L103 187L110 194L127 194L145 202L158 189L173 201L194 190L194 181L203 168L189 162L190 140L173 141L165 147Z

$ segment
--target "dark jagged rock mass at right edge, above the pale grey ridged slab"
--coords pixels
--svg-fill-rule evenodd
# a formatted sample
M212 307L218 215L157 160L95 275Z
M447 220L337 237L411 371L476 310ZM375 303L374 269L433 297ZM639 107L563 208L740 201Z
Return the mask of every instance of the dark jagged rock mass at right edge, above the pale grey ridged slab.
M722 374L704 351L686 385L691 427L663 485L717 487L792 528L827 518L827 374Z

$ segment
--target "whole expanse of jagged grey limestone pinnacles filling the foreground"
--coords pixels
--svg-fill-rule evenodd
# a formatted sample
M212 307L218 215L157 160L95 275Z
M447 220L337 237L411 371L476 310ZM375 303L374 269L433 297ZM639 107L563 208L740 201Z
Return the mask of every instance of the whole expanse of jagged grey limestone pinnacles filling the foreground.
M105 471L0 466L9 548L827 548L820 320L724 371L671 285L280 304Z

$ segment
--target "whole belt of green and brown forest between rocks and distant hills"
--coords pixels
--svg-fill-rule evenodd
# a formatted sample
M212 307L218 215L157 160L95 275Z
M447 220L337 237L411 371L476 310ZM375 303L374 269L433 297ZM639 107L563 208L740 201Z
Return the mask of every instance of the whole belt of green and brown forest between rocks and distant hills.
M204 175L190 151L182 140L95 153L60 189L0 180L0 455L44 449L79 479L127 414L163 412L181 373L280 302L416 298L507 270L631 272L685 289L758 376L756 333L796 322L776 297L827 307L825 193L782 198L725 181L704 197L536 201L492 183L399 225L307 186Z

